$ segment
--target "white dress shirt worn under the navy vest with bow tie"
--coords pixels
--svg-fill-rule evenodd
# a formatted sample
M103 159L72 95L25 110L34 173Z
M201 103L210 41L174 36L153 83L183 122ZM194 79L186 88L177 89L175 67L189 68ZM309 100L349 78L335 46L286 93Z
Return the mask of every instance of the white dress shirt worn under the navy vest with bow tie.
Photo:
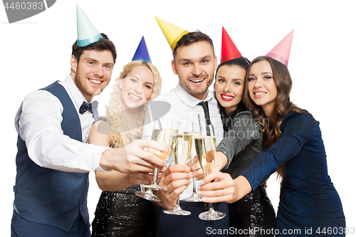
M108 147L87 144L93 114L86 111L80 115L79 107L86 100L70 75L59 83L78 112L83 142L63 135L60 100L46 90L36 90L26 95L19 117L19 135L26 142L28 156L41 167L64 172L101 171L100 156Z

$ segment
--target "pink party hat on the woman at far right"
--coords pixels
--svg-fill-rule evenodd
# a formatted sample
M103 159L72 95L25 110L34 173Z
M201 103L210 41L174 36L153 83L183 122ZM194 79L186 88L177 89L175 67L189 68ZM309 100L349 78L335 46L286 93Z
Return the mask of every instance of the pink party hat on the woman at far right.
M278 43L266 56L276 59L288 66L290 48L292 47L293 31L290 31L286 37L283 38L281 42Z

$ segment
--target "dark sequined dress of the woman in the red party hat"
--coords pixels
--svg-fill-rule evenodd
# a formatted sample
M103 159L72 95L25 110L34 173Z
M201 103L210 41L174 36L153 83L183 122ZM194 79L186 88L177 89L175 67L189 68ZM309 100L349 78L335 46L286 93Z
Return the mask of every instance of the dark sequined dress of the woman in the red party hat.
M233 118L222 115L222 119L226 133L216 150L226 154L228 163L221 172L236 179L263 151L263 138L258 132L261 127L246 111ZM243 199L229 204L229 217L229 230L234 230L231 236L273 236L266 233L276 228L276 213L263 184ZM258 229L265 232L251 231Z

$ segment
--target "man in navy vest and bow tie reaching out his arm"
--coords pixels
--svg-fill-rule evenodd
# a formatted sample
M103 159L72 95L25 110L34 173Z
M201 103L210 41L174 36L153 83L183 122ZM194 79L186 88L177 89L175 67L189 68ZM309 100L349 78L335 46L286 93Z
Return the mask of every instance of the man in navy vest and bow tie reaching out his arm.
M98 113L93 96L110 82L116 49L103 33L82 38L78 33L66 80L26 95L16 115L11 236L90 236L88 172L117 170L135 176L153 172L155 164L164 166L143 150L167 152L152 140L120 149L87 144Z

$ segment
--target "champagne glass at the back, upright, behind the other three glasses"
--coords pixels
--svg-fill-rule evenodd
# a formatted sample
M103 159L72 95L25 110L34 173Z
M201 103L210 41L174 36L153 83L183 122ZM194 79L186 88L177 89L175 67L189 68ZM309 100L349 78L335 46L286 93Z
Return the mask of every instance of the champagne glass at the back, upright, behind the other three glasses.
M192 139L192 152L190 154L190 162L193 162L194 157L196 156L197 152L195 152L195 143L194 138L201 137L201 121L199 113L190 113L189 114L189 127L188 129L192 131L193 139ZM189 198L184 199L183 201L187 202L200 202L201 197L197 194L197 189L195 186L195 178L193 178L193 193Z

